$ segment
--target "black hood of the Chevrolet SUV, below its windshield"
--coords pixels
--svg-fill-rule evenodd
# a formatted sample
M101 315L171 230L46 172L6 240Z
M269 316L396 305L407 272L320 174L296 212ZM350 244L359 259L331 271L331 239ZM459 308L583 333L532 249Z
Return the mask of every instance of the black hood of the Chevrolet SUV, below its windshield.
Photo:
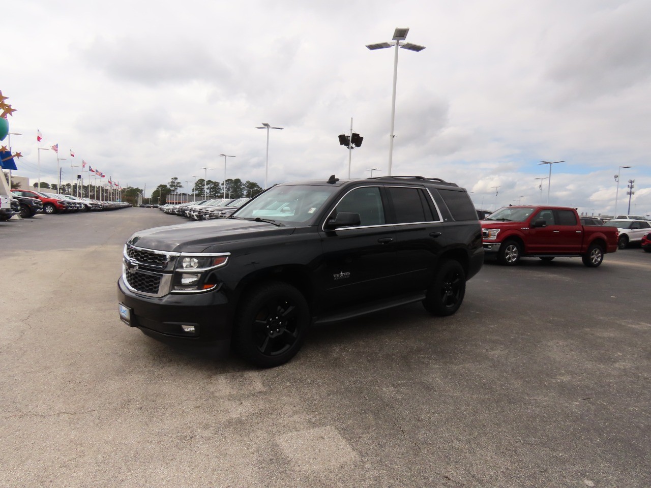
M128 242L137 247L168 252L203 252L206 248L229 244L242 239L267 236L288 236L294 227L278 227L267 222L236 219L215 219L208 222L166 225L139 230Z

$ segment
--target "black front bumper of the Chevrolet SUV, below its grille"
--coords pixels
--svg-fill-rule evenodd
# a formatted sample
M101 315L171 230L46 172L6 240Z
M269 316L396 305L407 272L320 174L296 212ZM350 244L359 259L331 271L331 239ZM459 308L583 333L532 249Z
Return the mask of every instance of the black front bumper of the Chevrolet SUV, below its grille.
M131 325L164 342L212 343L230 340L234 310L222 291L147 297L118 280L118 302L131 308ZM192 325L194 332L184 332Z

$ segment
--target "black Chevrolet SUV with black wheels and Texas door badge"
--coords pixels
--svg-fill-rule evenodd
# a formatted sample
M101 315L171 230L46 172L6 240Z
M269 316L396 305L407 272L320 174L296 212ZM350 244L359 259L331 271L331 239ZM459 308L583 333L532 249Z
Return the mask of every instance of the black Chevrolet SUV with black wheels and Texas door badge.
M275 185L226 219L136 232L124 246L118 308L148 336L230 341L271 367L314 325L417 301L454 314L483 261L465 189L333 175Z

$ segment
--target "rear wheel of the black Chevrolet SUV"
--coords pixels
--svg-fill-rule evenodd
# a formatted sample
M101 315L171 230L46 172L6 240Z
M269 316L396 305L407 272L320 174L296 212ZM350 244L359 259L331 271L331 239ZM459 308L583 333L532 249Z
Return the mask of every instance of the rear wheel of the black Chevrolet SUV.
M459 310L464 295L464 268L458 261L444 261L436 272L432 286L427 290L422 306L432 315L447 317Z

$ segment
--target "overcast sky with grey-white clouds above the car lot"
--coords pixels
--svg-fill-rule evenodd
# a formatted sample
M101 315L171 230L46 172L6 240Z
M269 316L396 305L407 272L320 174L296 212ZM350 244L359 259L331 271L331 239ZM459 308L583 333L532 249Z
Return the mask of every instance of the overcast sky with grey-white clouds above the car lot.
M443 178L478 207L547 200L587 213L651 212L648 0L143 1L3 4L0 90L16 174L42 147L149 195L176 176L264 185L348 175L337 136L364 137L353 178L387 174L393 49L400 49L393 174ZM6 144L7 140L3 143ZM63 181L70 162L62 161ZM41 179L57 160L41 152ZM78 169L74 169L77 173ZM499 185L495 197L493 187ZM190 185L191 186L191 185Z

